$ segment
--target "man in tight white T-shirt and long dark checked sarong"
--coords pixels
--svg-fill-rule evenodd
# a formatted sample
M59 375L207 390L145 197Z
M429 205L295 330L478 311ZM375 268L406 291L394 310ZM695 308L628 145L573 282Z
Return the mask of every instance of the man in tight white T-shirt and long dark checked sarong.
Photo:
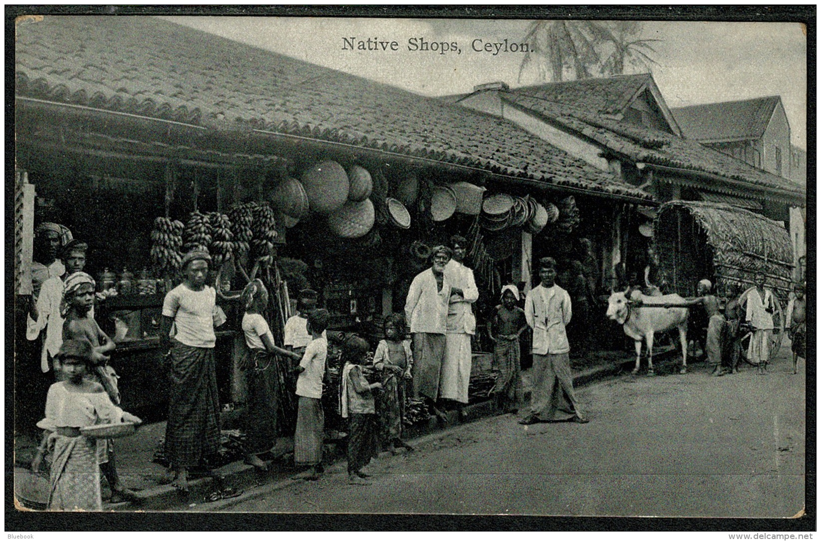
M160 340L170 347L170 392L165 453L172 484L187 493L188 470L219 451L219 397L213 348L217 291L206 285L211 256L192 250L183 258L183 282L163 301ZM174 328L171 337L172 325Z

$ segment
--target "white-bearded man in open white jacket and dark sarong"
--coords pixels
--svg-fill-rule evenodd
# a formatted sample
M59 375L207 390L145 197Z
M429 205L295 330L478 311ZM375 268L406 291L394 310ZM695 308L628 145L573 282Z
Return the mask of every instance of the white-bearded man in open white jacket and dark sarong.
M405 303L405 320L413 335L413 387L440 423L447 416L438 409L439 386L442 378L447 332L447 305L451 298L451 283L445 276L445 265L452 250L436 246L431 251L431 268L417 274L410 282Z

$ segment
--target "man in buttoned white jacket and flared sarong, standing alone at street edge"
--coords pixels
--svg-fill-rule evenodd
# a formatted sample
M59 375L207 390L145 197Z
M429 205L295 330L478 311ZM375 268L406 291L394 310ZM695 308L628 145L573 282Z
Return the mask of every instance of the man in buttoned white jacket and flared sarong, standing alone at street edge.
M525 319L533 329L533 391L530 413L519 423L586 423L573 391L565 330L572 315L570 295L556 285L555 259L539 259L539 278L542 282L530 290L525 300ZM554 392L557 385L560 392Z

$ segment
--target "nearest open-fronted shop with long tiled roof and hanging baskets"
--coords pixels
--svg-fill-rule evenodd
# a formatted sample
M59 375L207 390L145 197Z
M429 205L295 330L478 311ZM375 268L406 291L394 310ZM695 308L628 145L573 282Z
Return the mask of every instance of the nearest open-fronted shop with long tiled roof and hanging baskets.
M276 216L262 227L255 214L247 238L235 220L230 237L212 223L208 241L166 246L178 255L182 242L210 242L233 262L215 269L228 314L217 351L227 403L242 392L237 290L255 268L274 293L277 343L307 286L333 329L372 338L384 314L401 311L426 250L461 234L486 303L481 323L503 283L530 287L541 254L569 255L587 238L591 266L608 268L621 242L612 216L654 205L511 121L149 17L19 24L15 92L16 323L30 299L32 227L62 223L88 241L87 272L116 276L120 294L98 318L109 332L127 329L112 364L130 410L157 410L166 384L158 317L175 277L154 250L157 218L190 226L200 220L191 213L221 220L241 214L237 205Z

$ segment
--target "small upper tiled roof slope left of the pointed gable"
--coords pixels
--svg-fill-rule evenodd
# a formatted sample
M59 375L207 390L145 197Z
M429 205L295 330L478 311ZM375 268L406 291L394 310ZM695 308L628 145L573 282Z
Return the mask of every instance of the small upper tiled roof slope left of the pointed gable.
M635 94L647 85L653 76L641 73L633 76L615 76L607 79L566 80L557 83L543 83L522 86L511 90L522 96L562 103L570 107L598 112L603 115L618 115L624 111Z

